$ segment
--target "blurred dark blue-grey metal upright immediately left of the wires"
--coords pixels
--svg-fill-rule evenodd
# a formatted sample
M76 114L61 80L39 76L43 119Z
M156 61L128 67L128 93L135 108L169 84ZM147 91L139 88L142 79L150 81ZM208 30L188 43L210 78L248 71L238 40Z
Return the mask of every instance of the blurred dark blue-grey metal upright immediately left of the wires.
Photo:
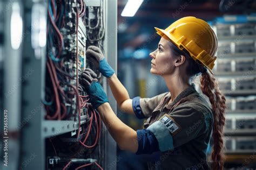
M37 1L46 6L45 1ZM42 123L44 120L44 107L41 102L44 89L45 54L41 58L35 56L31 42L31 12L33 2L23 1L24 5L24 32L22 52L22 75L29 69L34 70L22 84L22 118L29 121L21 131L21 160L19 165L23 169L45 169L45 143L42 137ZM45 12L46 13L46 12ZM46 51L46 47L42 48ZM31 160L31 161L29 161ZM29 162L26 163L26 162Z

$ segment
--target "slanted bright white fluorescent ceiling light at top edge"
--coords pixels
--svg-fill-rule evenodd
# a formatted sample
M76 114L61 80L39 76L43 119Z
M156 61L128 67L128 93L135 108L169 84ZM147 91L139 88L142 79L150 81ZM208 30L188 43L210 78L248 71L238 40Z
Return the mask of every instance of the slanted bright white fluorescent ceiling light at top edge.
M142 5L143 0L128 0L126 3L124 10L121 13L123 17L133 17L135 13L138 11L139 6Z

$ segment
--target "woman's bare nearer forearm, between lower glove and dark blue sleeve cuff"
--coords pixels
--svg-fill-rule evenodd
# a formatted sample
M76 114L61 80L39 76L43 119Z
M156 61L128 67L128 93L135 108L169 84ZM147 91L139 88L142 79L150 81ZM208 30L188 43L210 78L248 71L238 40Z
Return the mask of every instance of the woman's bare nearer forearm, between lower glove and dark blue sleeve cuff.
M109 103L100 105L97 110L120 149L131 151L133 153L137 152L137 132L120 121L120 119L114 114Z

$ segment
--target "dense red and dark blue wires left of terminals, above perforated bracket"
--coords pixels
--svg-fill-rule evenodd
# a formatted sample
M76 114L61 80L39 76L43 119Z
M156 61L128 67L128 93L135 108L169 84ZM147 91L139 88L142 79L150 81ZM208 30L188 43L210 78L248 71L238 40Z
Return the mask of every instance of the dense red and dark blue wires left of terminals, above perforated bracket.
M65 26L65 11L68 8L64 1L49 0L47 27L47 61L46 86L43 103L46 109L46 119L64 119L79 115L79 95L76 84L76 73L66 67L69 59L63 55L64 38L61 29ZM78 15L78 13L77 13ZM77 24L76 24L77 25ZM77 33L77 32L75 32ZM76 101L73 101L76 98ZM72 105L77 105L76 110ZM69 107L68 107L69 106ZM78 116L79 117L79 116Z

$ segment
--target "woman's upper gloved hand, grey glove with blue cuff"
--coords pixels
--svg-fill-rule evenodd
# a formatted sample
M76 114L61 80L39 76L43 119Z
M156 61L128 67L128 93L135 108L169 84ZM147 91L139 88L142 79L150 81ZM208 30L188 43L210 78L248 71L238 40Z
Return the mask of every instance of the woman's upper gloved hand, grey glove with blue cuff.
M113 68L109 65L109 63L107 63L99 47L89 46L85 55L99 68L99 72L105 77L109 78L114 74Z

